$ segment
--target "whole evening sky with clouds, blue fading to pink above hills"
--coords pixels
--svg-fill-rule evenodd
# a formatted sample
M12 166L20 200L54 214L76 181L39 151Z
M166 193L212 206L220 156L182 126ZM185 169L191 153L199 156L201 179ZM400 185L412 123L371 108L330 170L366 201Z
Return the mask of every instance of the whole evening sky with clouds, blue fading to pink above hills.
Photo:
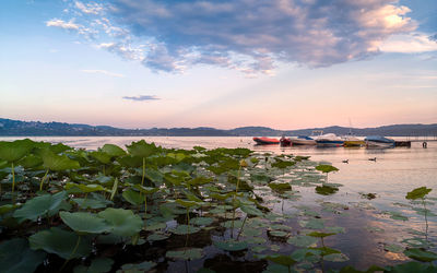
M4 0L0 118L437 123L437 1Z

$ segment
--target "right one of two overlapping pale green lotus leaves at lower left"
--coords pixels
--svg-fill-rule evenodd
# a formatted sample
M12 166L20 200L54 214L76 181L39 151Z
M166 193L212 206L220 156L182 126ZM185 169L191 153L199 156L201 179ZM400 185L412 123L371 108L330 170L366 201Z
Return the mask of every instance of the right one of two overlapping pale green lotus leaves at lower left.
M131 210L108 207L98 213L111 228L111 233L119 236L133 236L141 232L143 222Z

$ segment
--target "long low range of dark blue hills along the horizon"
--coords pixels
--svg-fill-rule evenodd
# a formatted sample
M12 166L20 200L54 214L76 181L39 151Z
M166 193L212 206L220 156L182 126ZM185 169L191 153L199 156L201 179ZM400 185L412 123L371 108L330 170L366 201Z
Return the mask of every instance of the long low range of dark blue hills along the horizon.
M387 135L387 136L415 136L437 135L437 123L434 124L393 124L377 128L346 128L323 127L299 130L275 130L268 127L240 127L232 130L220 130L209 127L199 128L152 128L152 129L120 129L109 126L88 126L63 122L20 121L0 118L1 136L280 136L280 135L308 135L320 130L324 133L347 134L352 131L355 135Z

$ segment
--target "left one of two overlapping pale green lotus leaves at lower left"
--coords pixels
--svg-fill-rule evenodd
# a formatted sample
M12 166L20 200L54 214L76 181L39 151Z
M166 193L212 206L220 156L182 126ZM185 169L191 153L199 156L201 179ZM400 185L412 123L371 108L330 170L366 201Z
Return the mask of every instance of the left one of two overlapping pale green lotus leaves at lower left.
M80 234L102 234L110 230L105 219L88 212L60 212L59 216L71 229Z

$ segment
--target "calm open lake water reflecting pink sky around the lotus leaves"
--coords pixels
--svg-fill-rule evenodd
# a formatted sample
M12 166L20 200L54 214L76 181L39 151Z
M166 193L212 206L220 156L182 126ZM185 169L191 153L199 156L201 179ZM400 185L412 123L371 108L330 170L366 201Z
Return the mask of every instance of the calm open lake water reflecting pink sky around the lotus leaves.
M12 141L17 138L0 138ZM22 138L20 138L22 139ZM329 162L340 170L329 174L329 182L341 183L340 190L329 197L315 193L314 187L294 187L299 191L297 201L286 200L276 203L271 200L271 206L277 213L298 213L296 206L306 205L311 210L322 211L323 202L344 204L342 216L327 216L330 225L341 226L345 233L328 238L327 245L341 249L351 259L347 264L366 269L370 264L394 264L408 260L402 253L385 250L391 244L406 246L404 240L414 237L415 232L425 232L424 216L420 215L405 200L406 192L426 186L433 191L430 198L437 198L437 142L428 142L427 149L422 142L412 142L411 147L365 149L315 146L255 145L251 138L215 138L215 136L37 136L34 141L62 142L73 147L96 150L105 143L125 147L132 141L144 139L164 147L192 149L200 145L214 147L247 147L256 152L275 154L308 155L311 161ZM376 157L376 161L369 158ZM347 159L349 163L343 163ZM361 193L376 193L376 199L365 199ZM400 204L402 203L402 204ZM428 207L437 213L436 200L430 200ZM326 207L324 207L326 209ZM392 218L398 213L408 221ZM428 216L428 239L437 242L437 217ZM293 223L291 223L293 225ZM414 229L415 232L413 232ZM350 244L353 241L354 244ZM434 248L435 249L435 248ZM286 251L284 247L281 251ZM363 259L365 257L365 259ZM180 265L180 264L179 264ZM178 263L170 265L169 272L177 272ZM344 266L343 263L341 263ZM335 264L332 264L335 268Z

